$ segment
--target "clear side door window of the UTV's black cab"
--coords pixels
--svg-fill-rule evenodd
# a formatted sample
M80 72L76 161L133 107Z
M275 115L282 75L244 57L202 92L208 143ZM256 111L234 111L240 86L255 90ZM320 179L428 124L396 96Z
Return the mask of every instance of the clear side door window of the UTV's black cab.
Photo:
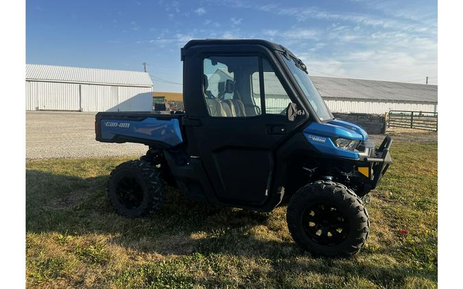
M285 114L292 102L270 64L258 56L210 56L203 60L203 95L210 116ZM263 78L263 91L260 84ZM263 101L265 97L265 109Z

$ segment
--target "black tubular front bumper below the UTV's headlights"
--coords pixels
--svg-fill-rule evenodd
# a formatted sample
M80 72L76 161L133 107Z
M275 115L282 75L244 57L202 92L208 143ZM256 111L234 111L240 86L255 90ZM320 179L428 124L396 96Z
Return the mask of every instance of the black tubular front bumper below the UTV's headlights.
M376 188L392 163L392 158L389 153L391 145L392 138L390 136L385 136L379 148L369 154L372 156L360 155L360 163L357 166L357 170L361 172L361 175L365 178L364 180L369 190Z

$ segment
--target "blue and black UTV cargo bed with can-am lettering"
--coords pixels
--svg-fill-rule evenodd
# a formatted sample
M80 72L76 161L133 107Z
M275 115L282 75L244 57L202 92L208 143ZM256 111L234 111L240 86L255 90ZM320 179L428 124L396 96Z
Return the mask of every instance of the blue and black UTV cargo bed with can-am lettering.
M183 142L180 121L184 114L98 112L95 134L99 142L137 142L167 149Z

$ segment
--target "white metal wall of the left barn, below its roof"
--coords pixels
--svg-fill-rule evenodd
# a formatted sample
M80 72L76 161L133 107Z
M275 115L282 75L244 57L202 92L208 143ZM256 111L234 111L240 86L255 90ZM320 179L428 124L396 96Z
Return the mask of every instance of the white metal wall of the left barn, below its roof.
M26 110L151 111L152 88L26 81Z

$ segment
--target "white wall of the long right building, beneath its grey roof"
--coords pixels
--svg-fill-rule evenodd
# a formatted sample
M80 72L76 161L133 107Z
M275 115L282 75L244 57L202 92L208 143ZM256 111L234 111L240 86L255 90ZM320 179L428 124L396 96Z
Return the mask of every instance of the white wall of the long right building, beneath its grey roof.
M390 110L414 110L418 112L437 112L437 103L405 103L372 100L345 100L324 97L331 112L385 114Z

